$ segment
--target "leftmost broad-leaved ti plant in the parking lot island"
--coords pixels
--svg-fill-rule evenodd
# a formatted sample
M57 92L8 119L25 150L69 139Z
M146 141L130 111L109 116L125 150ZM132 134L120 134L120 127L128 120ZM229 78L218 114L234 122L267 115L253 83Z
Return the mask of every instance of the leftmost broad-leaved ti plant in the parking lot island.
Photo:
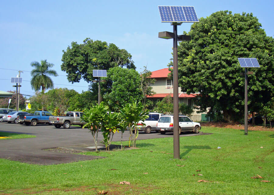
M81 116L81 121L85 122L82 128L87 127L90 130L95 143L96 151L98 131L99 129L102 129L104 125L108 109L108 106L105 106L104 102L101 102L100 105L97 104L93 107L90 107L90 109L84 109L85 114Z

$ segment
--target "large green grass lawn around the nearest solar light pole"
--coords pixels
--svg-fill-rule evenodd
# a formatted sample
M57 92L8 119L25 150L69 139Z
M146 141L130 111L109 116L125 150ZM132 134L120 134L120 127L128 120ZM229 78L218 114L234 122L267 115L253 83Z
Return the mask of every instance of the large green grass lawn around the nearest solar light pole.
M202 131L213 134L180 137L180 160L168 154L172 137L137 140L135 150L85 153L107 157L91 161L41 166L0 159L0 194L273 194L274 132ZM252 179L256 174L264 178Z

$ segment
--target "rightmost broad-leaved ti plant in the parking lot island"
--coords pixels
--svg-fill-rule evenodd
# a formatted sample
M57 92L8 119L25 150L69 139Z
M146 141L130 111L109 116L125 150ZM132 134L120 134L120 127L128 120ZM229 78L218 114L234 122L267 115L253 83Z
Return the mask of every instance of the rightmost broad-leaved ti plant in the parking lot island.
M138 123L139 121L144 121L148 118L148 110L144 109L144 106L141 102L137 101L128 103L123 108L120 109L121 119L125 121L126 125L129 127L130 132L130 142L132 147L136 147L136 139L139 134ZM144 123L142 123L145 125ZM134 131L134 135L133 135ZM130 144L129 144L130 146Z

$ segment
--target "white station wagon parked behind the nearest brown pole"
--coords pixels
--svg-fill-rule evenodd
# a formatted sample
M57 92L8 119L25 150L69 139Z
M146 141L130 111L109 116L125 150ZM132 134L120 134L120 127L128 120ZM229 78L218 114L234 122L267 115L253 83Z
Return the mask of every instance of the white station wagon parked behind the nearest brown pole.
M199 133L201 129L200 123L193 122L187 116L179 115L179 133L183 131L193 131L194 133ZM173 132L173 115L162 115L157 123L157 130L161 134L166 132Z

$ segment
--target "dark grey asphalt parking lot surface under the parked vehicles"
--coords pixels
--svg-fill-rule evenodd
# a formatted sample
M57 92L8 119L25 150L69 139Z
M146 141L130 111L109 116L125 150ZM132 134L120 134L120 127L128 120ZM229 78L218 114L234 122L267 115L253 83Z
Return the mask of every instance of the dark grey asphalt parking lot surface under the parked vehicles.
M14 123L0 123L0 131L10 133L23 133L35 135L36 138L0 140L0 158L16 160L23 163L50 165L70 163L81 160L92 160L102 158L100 156L77 155L70 153L51 152L48 148L71 148L83 151L92 151L95 146L91 133L88 129L78 126L71 126L70 129L55 128L52 125L26 126ZM205 133L193 134L185 132L180 136L204 135ZM139 132L138 140L173 137L172 133L162 135L152 132L146 134ZM103 146L100 140L103 139L101 132L98 134L98 146ZM123 141L129 139L129 131L123 134ZM121 141L121 133L115 133L112 141ZM138 144L138 143L137 143Z

